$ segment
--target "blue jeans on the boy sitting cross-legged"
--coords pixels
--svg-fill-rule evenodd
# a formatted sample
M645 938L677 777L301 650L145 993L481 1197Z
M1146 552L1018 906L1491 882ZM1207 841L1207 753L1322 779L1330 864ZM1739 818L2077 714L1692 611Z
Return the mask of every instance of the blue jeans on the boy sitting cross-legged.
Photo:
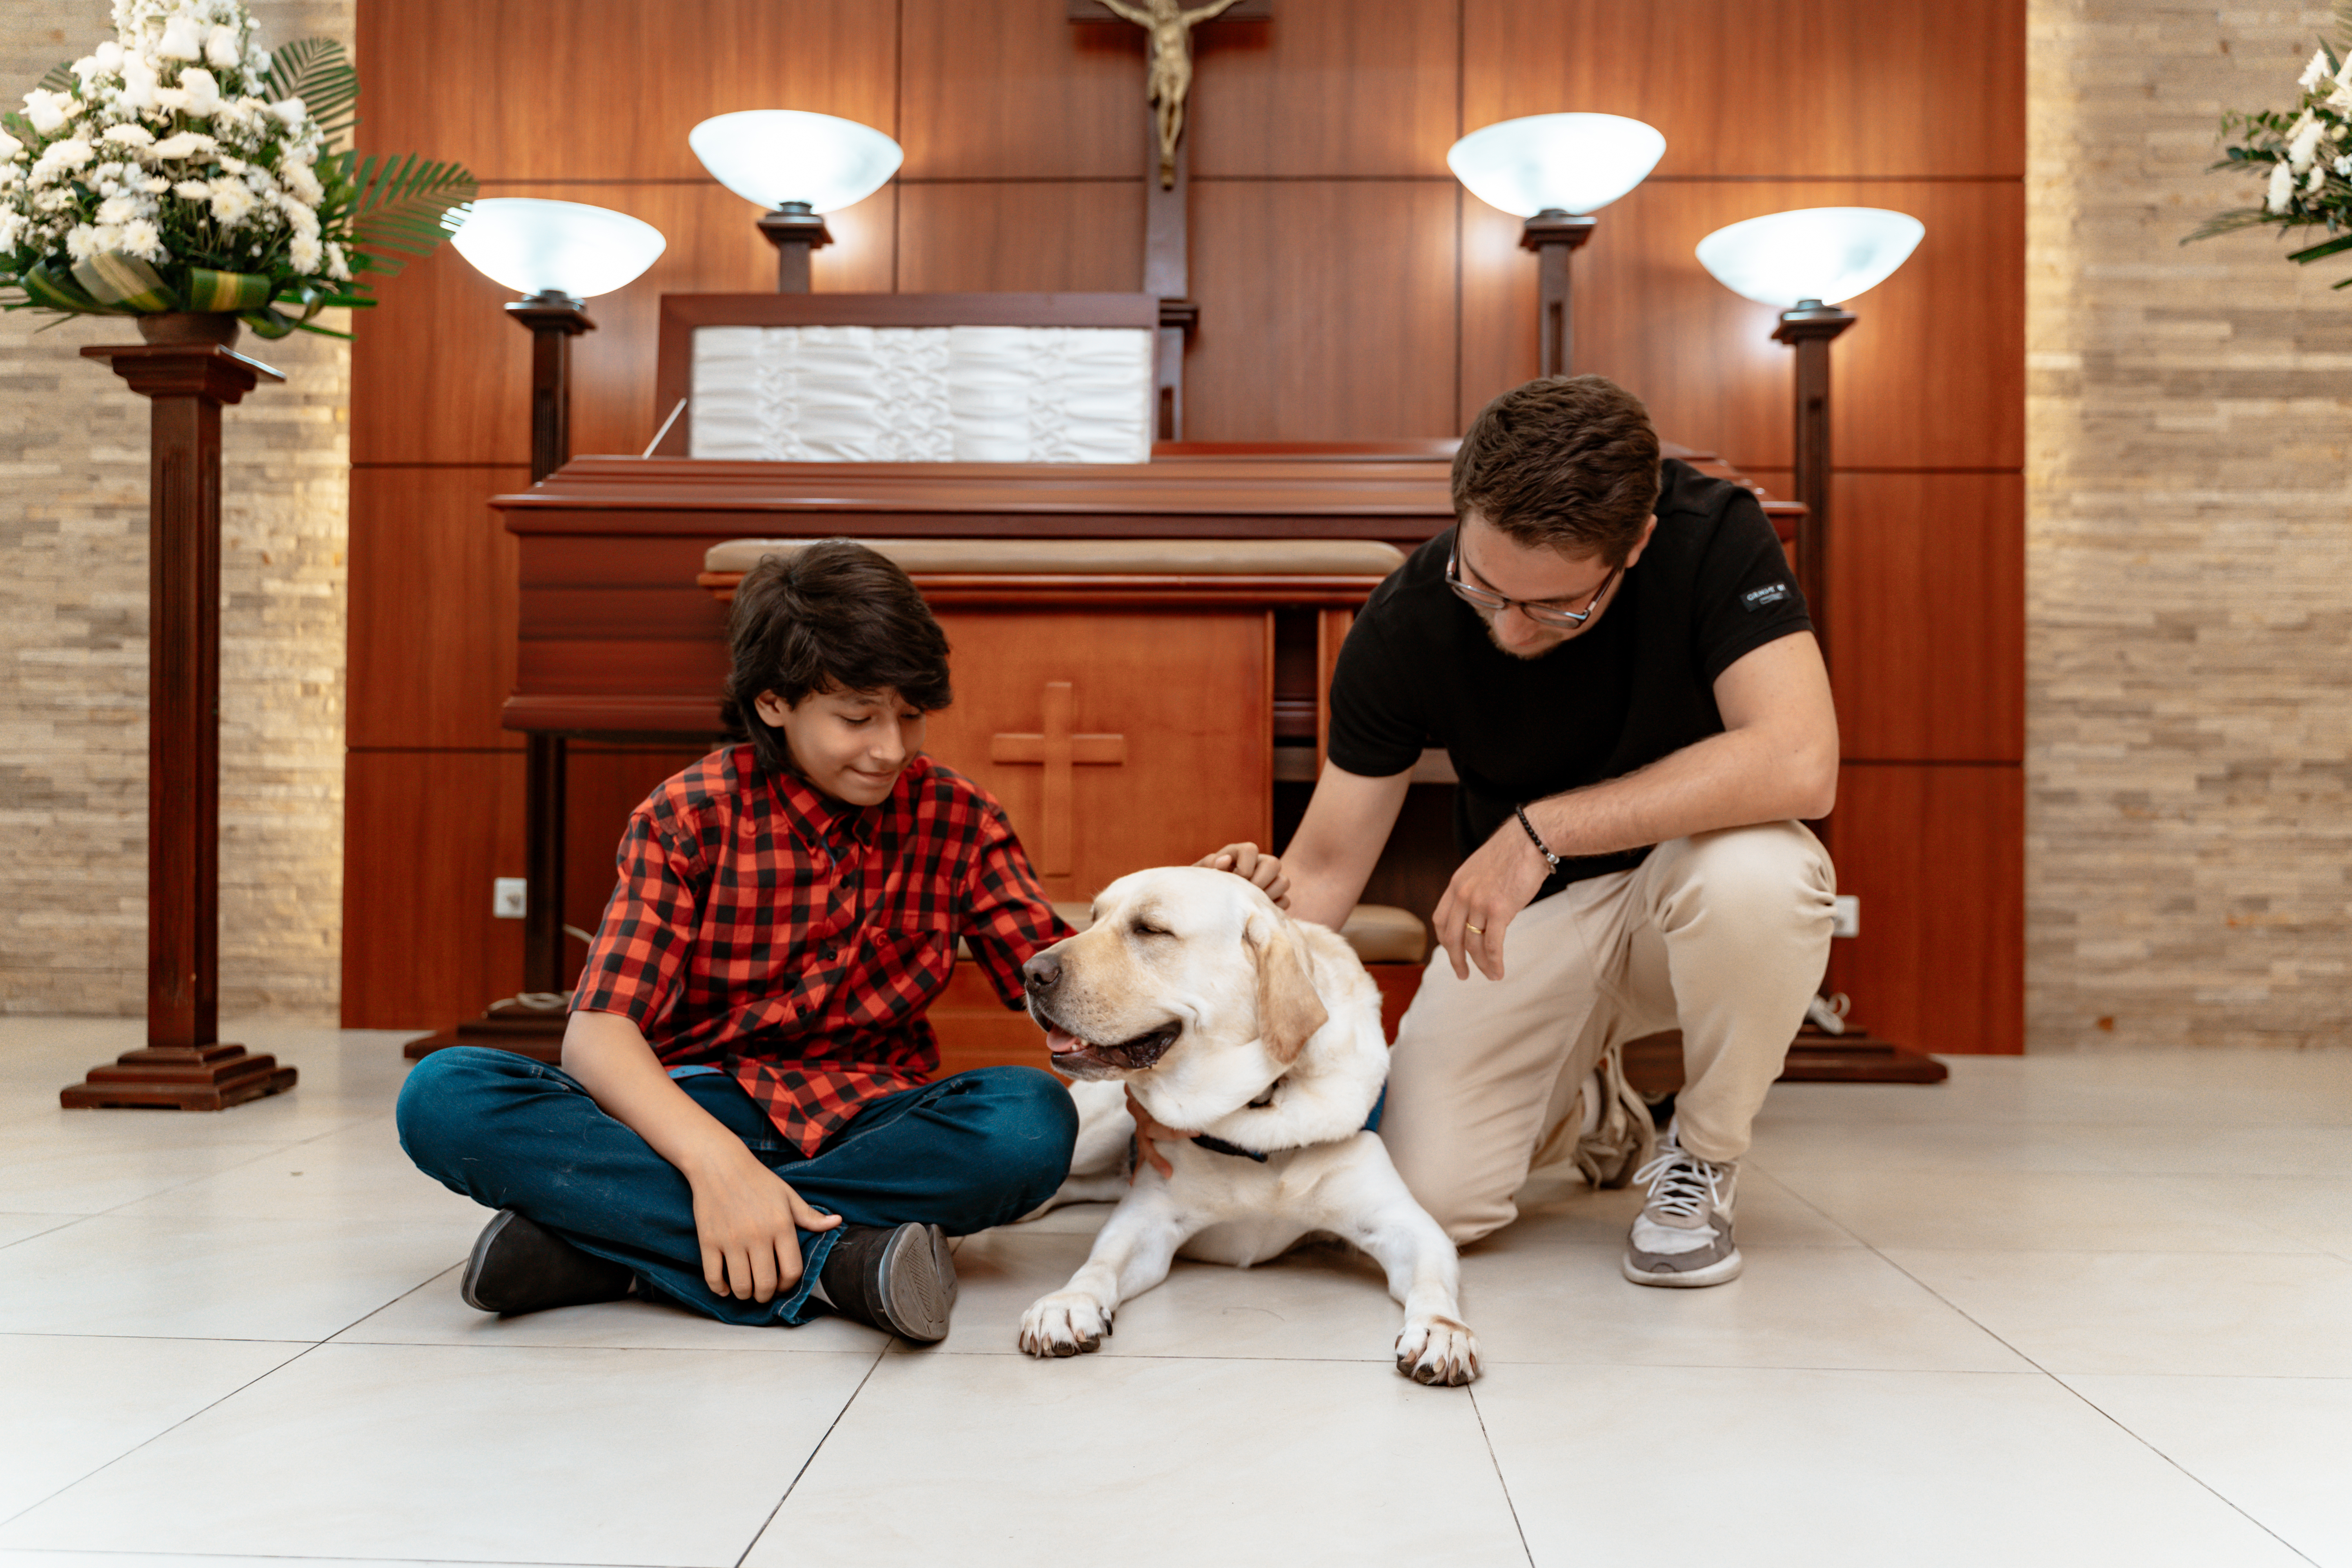
M694 1103L849 1225L938 1225L964 1237L1016 1220L1070 1173L1077 1107L1037 1067L981 1067L875 1100L811 1157L783 1143L731 1077L677 1079ZM562 1067L454 1046L400 1086L400 1147L485 1208L517 1208L574 1246L626 1262L640 1295L722 1324L800 1324L840 1229L800 1232L800 1286L771 1302L703 1284L694 1190L644 1138L614 1121Z

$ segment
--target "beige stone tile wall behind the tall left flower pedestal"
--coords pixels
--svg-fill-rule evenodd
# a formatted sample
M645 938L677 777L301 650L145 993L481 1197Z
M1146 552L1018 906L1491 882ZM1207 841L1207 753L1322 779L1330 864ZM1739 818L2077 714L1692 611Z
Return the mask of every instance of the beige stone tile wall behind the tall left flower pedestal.
M353 0L252 7L273 42ZM9 0L0 92L111 35L106 0ZM0 317L0 1011L146 1006L148 404L85 343ZM341 324L341 322L329 322ZM223 418L221 1009L332 1020L343 903L350 353L294 334Z

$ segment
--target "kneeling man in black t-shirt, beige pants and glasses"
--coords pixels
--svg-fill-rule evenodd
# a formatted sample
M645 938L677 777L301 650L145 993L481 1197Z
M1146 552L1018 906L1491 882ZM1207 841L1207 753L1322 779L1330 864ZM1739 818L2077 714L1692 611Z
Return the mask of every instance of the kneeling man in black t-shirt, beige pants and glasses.
M1604 1053L1679 1027L1686 1084L1623 1267L1722 1284L1748 1126L1830 952L1835 882L1802 825L1837 792L1820 644L1755 496L1661 468L1646 409L1602 376L1494 400L1454 508L1341 649L1289 907L1345 919L1444 745L1465 858L1397 1032L1397 1168L1456 1241L1484 1237L1581 1100L1606 1105Z

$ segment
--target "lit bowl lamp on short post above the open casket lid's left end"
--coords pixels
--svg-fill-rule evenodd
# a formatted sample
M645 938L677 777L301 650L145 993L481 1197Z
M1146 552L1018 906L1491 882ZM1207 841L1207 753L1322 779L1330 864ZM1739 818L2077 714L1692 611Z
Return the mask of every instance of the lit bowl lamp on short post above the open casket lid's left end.
M809 292L809 252L833 244L823 214L863 202L906 158L870 125L800 108L717 115L687 132L687 146L710 179L760 207L760 233L776 247L776 294Z

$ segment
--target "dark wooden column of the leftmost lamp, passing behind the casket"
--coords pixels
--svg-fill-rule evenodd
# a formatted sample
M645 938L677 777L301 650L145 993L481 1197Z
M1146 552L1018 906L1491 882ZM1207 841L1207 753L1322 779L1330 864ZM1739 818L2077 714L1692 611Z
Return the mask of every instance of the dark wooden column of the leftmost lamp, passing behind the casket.
M802 261L807 266L807 261ZM572 339L595 331L588 308L553 289L506 308L532 329L532 484L572 456ZM522 990L564 990L564 738L524 738L524 860L529 903L522 914ZM557 1032L562 1013L555 1016Z

